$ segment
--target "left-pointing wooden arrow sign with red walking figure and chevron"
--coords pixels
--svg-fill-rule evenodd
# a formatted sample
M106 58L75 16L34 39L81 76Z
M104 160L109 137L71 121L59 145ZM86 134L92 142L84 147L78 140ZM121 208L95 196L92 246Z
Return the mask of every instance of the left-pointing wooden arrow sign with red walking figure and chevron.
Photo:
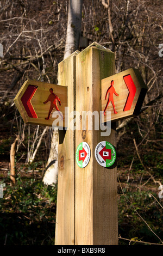
M67 87L27 80L14 99L24 123L52 126L55 119L65 127Z

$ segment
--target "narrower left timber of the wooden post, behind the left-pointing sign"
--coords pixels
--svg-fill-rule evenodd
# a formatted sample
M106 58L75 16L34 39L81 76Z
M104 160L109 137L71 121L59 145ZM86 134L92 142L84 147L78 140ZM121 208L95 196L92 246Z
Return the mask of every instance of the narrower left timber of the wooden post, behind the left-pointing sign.
M67 106L75 109L76 55L71 54L58 65L58 83L67 86ZM74 245L74 131L59 130L58 196L55 245Z

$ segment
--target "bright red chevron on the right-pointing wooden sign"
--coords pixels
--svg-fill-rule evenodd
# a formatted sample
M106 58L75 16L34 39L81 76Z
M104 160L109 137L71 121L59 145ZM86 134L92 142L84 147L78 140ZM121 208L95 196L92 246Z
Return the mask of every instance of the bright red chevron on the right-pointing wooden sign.
M129 94L127 96L126 103L124 105L123 111L128 111L131 108L131 105L133 103L135 93L136 93L136 86L134 84L134 81L131 77L131 75L123 76L124 82L126 83L126 86L129 90Z

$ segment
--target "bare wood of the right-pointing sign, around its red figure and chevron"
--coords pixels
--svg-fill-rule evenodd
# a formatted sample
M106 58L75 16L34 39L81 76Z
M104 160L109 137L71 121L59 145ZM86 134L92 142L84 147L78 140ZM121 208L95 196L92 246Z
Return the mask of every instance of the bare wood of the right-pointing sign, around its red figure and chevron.
M133 82L136 87L134 100L131 105L131 108L128 111L123 110L129 95L129 90L126 86L126 83L123 80L123 77L126 75L131 75L131 78L133 79ZM143 82L143 79L139 71L131 68L131 69L122 71L116 75L106 77L102 80L102 111L104 111L106 103L108 102L109 95L106 97L106 99L105 99L105 95L108 88L110 87L112 80L114 80L114 88L118 96L116 96L115 94L113 95L115 109L117 113L116 114L114 113L114 108L112 107L111 102L109 103L108 108L106 109L106 111L111 112L111 120L117 121L117 120L134 117L135 115L138 115L147 92L147 86L145 82ZM105 115L104 121L109 121L109 119L106 118L106 115Z

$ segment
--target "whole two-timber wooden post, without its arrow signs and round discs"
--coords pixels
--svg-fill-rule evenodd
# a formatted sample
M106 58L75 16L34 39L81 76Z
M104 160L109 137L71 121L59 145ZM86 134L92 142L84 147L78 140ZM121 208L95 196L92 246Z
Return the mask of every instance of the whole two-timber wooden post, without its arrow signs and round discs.
M114 53L93 43L59 64L59 84L68 86L71 111L101 109L101 80L115 74ZM81 120L79 120L81 121ZM94 127L94 124L93 124ZM117 245L117 168L104 168L95 159L96 145L108 141L116 148L116 124L109 137L101 130L59 131L59 170L55 245ZM81 142L91 150L89 164L80 168L75 153Z

